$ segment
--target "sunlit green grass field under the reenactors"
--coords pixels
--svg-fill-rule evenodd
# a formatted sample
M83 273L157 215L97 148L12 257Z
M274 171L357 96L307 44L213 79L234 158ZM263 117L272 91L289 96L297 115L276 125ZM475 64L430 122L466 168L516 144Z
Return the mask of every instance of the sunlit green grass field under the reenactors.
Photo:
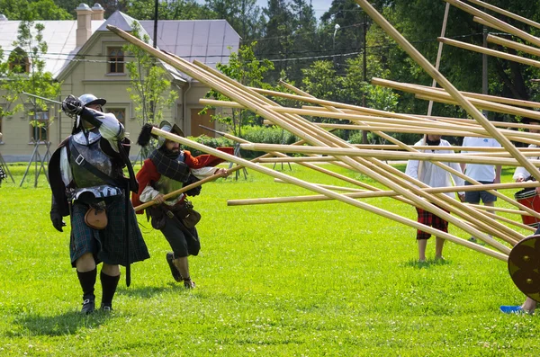
M416 263L414 228L336 201L228 207L227 200L311 194L253 170L247 180L207 183L193 198L202 213L202 252L190 259L195 290L173 281L165 238L139 216L151 258L131 266L130 288L122 275L110 315L81 316L68 229L61 234L49 222L45 176L33 188L31 171L19 188L26 165L10 167L16 184L8 178L0 187L2 356L537 356L540 351L537 316L499 312L501 304L524 299L506 263L452 243L446 244L446 262L434 263L433 240L429 262ZM283 171L312 183L340 184L298 165L293 171L284 165ZM505 182L511 172L504 171ZM366 201L416 219L415 210L399 201ZM450 232L468 237L455 227ZM99 282L96 296L99 303Z

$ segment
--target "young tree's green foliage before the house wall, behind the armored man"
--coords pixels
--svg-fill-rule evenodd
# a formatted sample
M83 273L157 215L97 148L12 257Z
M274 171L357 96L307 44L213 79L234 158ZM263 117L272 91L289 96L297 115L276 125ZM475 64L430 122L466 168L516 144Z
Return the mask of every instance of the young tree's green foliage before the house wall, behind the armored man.
M143 32L139 22L131 23L131 28L133 36L149 42L148 34ZM136 103L135 117L140 125L159 123L163 119L163 108L173 105L178 94L172 89L171 82L166 79L166 70L156 58L132 44L124 45L123 50L134 58L126 68L130 75L128 93L131 101Z

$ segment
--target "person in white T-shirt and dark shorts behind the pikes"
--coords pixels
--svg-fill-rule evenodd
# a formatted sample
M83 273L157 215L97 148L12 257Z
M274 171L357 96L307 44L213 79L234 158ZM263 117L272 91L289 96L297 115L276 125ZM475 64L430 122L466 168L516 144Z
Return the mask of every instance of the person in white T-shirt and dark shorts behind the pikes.
M500 143L494 138L475 138L465 137L463 147L500 147ZM481 151L462 150L462 153L482 153ZM461 164L464 173L473 180L482 184L500 183L500 165L482 165L482 164ZM465 182L465 185L473 183ZM470 191L465 192L465 202L479 204L482 200L484 206L494 207L497 196L487 191ZM488 212L495 213L492 210ZM469 239L476 242L475 237Z

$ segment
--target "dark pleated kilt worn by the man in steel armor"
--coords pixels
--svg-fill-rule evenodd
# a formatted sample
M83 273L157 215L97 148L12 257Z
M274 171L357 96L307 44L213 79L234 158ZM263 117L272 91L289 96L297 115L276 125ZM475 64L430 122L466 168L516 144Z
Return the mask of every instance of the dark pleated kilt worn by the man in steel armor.
M125 202L124 195L114 198L107 203L106 212L108 225L104 229L89 228L85 224L85 213L88 206L75 201L71 208L71 237L69 254L71 265L76 266L76 260L83 254L92 253L95 263L111 265L126 265L128 262L140 262L148 259L148 248L140 233L135 211L131 204L130 214L130 256L126 254L125 241Z

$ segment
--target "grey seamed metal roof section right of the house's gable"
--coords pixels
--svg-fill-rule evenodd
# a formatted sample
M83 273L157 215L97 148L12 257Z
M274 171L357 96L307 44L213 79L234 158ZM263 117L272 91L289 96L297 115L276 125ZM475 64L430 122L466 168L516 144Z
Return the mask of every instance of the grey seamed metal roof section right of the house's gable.
M139 21L154 38L154 22ZM216 67L229 63L230 51L238 51L240 36L226 20L164 20L157 22L157 47L189 61ZM228 47L231 47L229 50Z

